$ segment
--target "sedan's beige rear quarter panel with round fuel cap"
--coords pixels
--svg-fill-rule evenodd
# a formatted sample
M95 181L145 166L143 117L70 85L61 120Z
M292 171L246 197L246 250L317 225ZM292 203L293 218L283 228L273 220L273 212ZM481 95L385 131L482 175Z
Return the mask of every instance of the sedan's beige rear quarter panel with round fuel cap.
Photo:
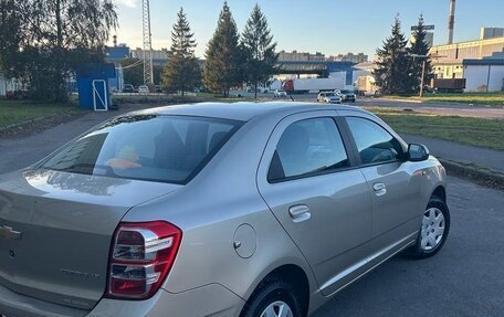
M181 293L220 284L243 299L270 272L300 266L311 292L316 285L302 254L259 194L255 175L265 144L281 117L258 118L242 126L212 161L182 190L138 205L124 221L167 220L182 230L182 243L164 285ZM253 255L234 250L237 229L248 224Z

